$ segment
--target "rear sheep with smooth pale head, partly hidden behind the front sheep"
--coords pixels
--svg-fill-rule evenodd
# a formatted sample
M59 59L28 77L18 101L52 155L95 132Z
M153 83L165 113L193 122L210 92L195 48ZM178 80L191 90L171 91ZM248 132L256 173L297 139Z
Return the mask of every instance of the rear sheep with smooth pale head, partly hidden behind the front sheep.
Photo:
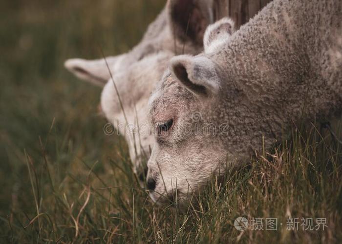
M130 158L137 166L142 157L149 156L149 147L154 142L147 128L148 99L154 84L160 80L172 56L203 51L204 31L208 24L222 17L218 13L223 12L220 11L223 2L168 0L137 46L126 54L106 58L117 91L105 59L76 58L65 62L65 67L79 78L104 87L101 110L125 136Z

